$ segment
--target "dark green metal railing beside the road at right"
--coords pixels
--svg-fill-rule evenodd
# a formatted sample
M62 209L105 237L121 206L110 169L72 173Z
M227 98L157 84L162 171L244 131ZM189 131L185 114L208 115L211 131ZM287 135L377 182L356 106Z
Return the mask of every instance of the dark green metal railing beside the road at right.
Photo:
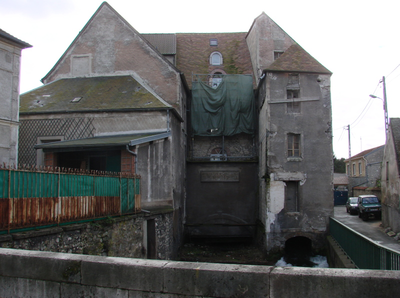
M330 217L330 235L359 269L400 270L400 252L379 245Z

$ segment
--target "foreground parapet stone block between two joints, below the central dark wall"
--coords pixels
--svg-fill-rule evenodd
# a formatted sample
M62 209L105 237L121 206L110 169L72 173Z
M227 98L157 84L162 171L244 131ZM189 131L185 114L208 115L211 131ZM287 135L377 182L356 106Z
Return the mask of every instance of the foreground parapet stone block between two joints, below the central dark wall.
M268 297L272 268L171 261L164 267L164 291L201 297Z

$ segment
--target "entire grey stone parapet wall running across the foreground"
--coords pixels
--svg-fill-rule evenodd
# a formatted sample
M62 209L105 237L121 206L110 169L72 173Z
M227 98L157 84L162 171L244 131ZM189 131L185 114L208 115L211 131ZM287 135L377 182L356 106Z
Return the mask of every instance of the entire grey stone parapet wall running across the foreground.
M400 271L273 267L0 248L1 297L394 297Z

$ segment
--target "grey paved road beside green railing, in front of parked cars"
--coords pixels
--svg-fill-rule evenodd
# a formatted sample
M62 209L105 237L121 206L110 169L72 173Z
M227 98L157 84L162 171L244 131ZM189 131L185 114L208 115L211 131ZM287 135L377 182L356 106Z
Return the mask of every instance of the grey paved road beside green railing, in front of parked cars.
M400 251L400 242L383 232L383 228L380 227L381 220L371 217L368 221L363 221L358 215L347 213L345 206L335 206L333 210L334 219L381 245Z

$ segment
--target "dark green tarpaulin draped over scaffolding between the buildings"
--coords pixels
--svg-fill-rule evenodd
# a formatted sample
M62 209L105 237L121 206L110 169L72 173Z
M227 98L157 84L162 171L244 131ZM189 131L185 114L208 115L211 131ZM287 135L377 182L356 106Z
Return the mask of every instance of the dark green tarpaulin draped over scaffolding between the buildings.
M251 75L218 75L211 87L197 76L192 84L191 127L194 135L233 135L254 132L254 93ZM212 78L211 78L212 79ZM215 78L213 78L215 80Z

